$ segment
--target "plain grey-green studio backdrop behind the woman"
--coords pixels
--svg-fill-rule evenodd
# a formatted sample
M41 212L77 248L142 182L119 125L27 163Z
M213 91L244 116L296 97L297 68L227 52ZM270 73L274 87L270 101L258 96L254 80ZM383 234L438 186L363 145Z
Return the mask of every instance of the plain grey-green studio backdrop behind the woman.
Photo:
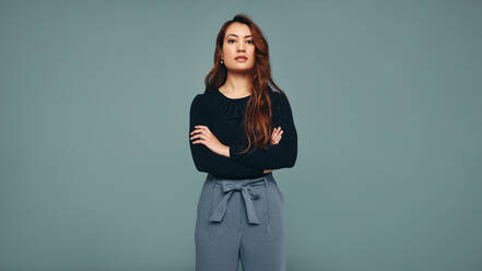
M0 269L193 270L188 140L222 23L298 131L289 270L482 270L480 1L1 1Z

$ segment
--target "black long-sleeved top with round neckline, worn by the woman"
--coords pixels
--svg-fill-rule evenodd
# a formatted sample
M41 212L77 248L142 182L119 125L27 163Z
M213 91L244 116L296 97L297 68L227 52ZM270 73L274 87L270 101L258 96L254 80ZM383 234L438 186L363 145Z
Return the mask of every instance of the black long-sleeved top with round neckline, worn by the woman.
M188 134L192 160L199 172L226 179L256 178L264 169L293 167L297 156L297 133L292 109L286 95L270 91L273 129L281 127L283 134L278 144L268 150L251 145L247 153L237 152L247 148L244 132L244 114L251 96L230 98L220 90L208 90L197 94L189 113L189 133L195 126L208 126L218 140L230 146L230 157L211 151L202 143L192 144Z

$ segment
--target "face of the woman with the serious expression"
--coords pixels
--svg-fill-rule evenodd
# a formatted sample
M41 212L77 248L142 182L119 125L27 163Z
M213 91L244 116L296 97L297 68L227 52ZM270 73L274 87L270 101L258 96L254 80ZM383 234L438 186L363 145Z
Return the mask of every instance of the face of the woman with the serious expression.
M246 59L236 59L239 56ZM231 71L248 71L255 64L255 44L246 24L234 22L226 28L221 59Z

